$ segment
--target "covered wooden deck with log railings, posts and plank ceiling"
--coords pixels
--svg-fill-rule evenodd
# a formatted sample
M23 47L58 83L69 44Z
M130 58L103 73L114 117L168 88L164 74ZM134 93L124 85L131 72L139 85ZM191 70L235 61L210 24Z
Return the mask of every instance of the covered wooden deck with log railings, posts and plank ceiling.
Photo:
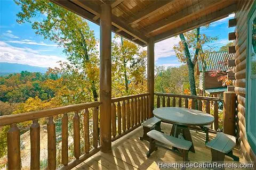
M185 107L214 115L210 131L213 133L210 133L210 139L214 138L219 124L222 124L218 113L218 101L222 99L155 92L154 44L181 32L225 18L236 11L238 1L51 1L100 24L100 100L43 111L1 116L0 126L10 125L7 132L9 169L22 168L18 124L27 121L31 121L30 168L39 169L41 141L38 120L42 118L47 119L47 169L58 167L60 169L158 169L157 163L159 162L182 161L182 157L161 148L153 152L149 158L146 157L148 142L139 140L142 135L141 123L153 117L152 111L156 107ZM233 24L230 22L230 26L235 25L236 21ZM111 98L111 31L141 46L147 46L146 93ZM235 47L233 48L235 49ZM236 118L236 114L239 117L239 113L235 109L235 97L233 92L227 94L226 100L224 98L225 112L233 116L223 121L233 122L234 126L226 132L235 135L239 141L239 135L241 136L239 132L245 131L245 129L240 131L238 124L245 124L245 120L240 122ZM237 108L242 107L238 105ZM73 117L70 118L70 116ZM60 165L57 165L56 123L54 121L57 118L61 118L62 123ZM74 155L71 156L68 147L70 143L68 140L69 122L73 123L74 131L72 141ZM92 125L89 125L89 122L92 122ZM170 133L171 127L169 126L163 125L163 130L166 133ZM92 131L92 134L89 131ZM81 138L82 135L84 140ZM210 161L211 151L205 147L205 134L191 131L191 135L196 152L189 152L190 161ZM83 147L81 143L84 144ZM83 148L83 152L81 148ZM247 145L246 150L250 151ZM236 156L241 158L241 152L237 149L233 149L233 151ZM225 159L231 160L228 157ZM241 158L240 161L243 162L243 159Z

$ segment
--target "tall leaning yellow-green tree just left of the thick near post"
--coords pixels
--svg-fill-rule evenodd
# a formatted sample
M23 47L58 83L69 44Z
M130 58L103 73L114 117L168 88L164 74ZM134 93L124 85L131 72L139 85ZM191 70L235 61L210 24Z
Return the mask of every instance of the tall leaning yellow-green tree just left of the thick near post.
M86 20L48 0L15 0L15 3L21 6L17 22L31 23L37 35L62 46L71 64L82 70L90 82L94 100L98 100L95 85L99 83L98 40ZM38 21L38 15L42 21Z

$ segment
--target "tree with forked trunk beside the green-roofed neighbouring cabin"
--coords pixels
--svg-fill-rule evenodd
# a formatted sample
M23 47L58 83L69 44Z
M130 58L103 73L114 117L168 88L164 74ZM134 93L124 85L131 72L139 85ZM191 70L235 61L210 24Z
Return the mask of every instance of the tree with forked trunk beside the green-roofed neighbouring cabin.
M208 28L209 25L206 25ZM206 36L200 33L200 27L179 35L180 40L178 45L173 47L176 56L180 62L186 63L188 66L188 79L190 84L191 95L196 96L195 72L194 68L198 60L198 54L203 48L203 45L217 40L217 37Z

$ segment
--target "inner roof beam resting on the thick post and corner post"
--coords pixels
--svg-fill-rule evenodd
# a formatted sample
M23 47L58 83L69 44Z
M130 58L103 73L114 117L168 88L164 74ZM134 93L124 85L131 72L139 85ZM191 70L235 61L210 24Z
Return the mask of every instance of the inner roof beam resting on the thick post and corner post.
M91 1L82 1L82 0L72 0L71 2L77 4L78 6L83 7L85 10L93 13L94 15L100 17L101 8L98 4L92 3ZM130 34L132 37L135 37L147 44L148 38L145 36L144 32L140 32L136 29L133 29L127 23L117 18L116 15L111 15L112 25L117 27L118 29L123 30L124 32Z

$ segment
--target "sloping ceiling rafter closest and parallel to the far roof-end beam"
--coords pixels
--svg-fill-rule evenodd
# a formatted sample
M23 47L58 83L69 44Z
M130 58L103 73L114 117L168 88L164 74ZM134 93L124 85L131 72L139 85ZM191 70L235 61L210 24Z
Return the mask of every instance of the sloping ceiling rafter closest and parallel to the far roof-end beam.
M164 27L167 27L168 25L175 24L185 18L189 18L190 16L194 15L195 13L199 13L202 11L207 10L208 8L211 8L215 5L218 5L222 3L223 0L211 0L211 1L201 1L198 4L189 6L187 8L184 8L180 12L168 16L167 18L157 21L156 23L148 25L148 27L144 28L145 32L151 33L160 29L163 29Z

